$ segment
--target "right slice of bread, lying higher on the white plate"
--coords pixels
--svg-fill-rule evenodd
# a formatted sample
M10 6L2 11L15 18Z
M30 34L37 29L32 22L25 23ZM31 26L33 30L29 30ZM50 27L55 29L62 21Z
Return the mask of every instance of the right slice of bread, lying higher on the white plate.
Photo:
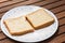
M26 18L35 29L47 27L54 22L54 18L46 12L44 9L39 9L38 11L28 14Z

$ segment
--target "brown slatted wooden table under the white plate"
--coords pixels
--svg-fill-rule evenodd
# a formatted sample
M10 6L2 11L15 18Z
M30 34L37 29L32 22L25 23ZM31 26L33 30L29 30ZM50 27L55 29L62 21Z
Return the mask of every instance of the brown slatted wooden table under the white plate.
M0 19L2 15L20 5L39 5L52 11L58 19L58 29L56 33L46 41L38 43L65 43L65 0L3 0L0 1ZM0 29L0 43L21 43L9 39Z

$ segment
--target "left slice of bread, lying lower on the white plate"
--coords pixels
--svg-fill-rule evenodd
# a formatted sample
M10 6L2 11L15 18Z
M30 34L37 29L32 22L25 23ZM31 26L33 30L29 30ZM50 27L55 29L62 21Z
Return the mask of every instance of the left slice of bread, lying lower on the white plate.
M4 24L9 32L14 35L25 34L34 31L34 28L25 17L9 18L4 20Z

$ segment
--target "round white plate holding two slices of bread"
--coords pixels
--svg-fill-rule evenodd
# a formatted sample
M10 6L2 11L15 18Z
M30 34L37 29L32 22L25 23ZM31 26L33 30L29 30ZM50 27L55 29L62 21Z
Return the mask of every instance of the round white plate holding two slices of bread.
M2 16L1 30L9 38L11 38L15 41L20 41L20 42L39 42L39 41L43 41L43 40L52 37L55 33L55 31L57 30L58 22L57 22L57 18L55 17L55 15L52 12L48 11L47 9L44 9L44 11L47 11L51 16L53 16L55 22L51 26L36 30L35 32L27 33L24 35L18 35L18 37L11 35L3 24L3 19L6 19L9 17L12 18L12 17L18 17L22 15L26 15L38 9L41 9L41 8L35 6L35 5L23 5L23 6L18 6L18 8L14 8L12 10L10 10Z

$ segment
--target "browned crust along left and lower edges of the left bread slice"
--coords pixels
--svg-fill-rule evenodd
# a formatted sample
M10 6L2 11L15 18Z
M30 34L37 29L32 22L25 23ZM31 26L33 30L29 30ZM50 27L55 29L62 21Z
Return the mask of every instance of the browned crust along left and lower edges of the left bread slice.
M18 31L18 32L12 32L8 26L8 24L5 23L5 20L3 20L3 24L5 25L6 29L9 30L9 32L12 34L12 35L23 35L23 34L26 34L26 33L29 33L29 32L34 32L34 28L31 27L31 29L28 29L28 30L24 30L24 31Z

